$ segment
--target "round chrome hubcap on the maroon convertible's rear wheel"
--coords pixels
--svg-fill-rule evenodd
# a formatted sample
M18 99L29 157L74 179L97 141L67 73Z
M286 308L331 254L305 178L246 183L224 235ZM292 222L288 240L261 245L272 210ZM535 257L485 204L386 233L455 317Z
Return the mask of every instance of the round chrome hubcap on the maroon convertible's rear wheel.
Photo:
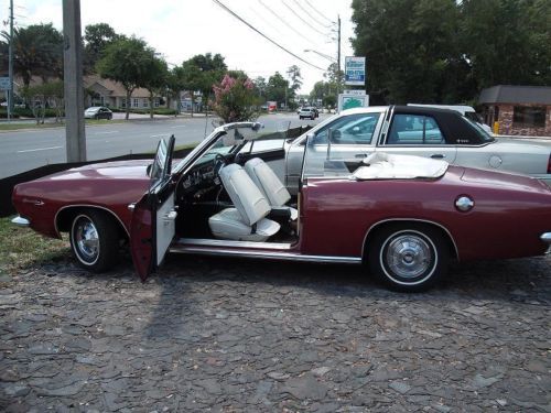
M418 236L400 236L388 244L385 261L399 278L415 279L431 265L431 247Z

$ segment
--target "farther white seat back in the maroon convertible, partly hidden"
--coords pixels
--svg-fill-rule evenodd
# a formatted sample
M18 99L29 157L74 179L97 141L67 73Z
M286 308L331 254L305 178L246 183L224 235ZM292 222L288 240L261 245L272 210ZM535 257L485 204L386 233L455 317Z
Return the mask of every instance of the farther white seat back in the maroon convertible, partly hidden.
M245 171L272 207L288 209L292 220L299 217L299 211L295 208L285 205L291 199L291 194L264 161L260 157L252 157L245 163Z

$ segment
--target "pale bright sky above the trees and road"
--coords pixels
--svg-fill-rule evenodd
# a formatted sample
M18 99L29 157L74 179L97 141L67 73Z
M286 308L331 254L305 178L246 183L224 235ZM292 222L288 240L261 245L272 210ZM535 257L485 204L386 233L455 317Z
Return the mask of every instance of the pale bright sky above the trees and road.
M136 35L180 65L196 54L219 53L230 69L245 70L251 78L268 79L276 72L285 76L291 65L301 69L301 94L314 84L337 57L336 29L341 15L341 67L352 56L349 39L352 0L218 0L260 32L304 63L248 28L214 0L80 0L80 20L108 23L117 33ZM13 0L17 26L50 23L63 29L62 0ZM8 30L9 0L0 0L2 30ZM313 50L318 52L304 52ZM317 66L322 69L315 68Z

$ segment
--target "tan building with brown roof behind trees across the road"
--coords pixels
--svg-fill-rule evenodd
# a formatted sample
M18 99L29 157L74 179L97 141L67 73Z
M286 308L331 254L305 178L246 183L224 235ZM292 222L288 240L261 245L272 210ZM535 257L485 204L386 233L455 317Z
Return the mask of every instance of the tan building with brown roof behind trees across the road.
M89 91L85 106L107 106L109 108L125 109L127 107L127 91L122 84L104 79L98 75L85 76L84 87ZM149 90L136 88L130 95L128 104L132 109L149 109ZM155 108L165 107L165 99L160 95L154 95L153 106Z

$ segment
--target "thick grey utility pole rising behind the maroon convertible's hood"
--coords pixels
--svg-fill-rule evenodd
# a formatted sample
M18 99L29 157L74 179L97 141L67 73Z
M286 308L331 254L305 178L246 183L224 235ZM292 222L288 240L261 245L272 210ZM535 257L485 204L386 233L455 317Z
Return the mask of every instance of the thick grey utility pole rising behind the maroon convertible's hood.
M80 0L63 0L63 88L67 162L86 161Z

